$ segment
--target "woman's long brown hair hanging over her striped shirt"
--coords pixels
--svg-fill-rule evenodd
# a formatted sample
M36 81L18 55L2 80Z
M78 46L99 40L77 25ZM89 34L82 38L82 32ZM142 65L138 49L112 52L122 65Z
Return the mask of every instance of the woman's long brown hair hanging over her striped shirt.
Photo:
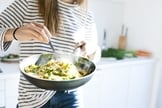
M86 7L86 0L74 0L79 6ZM45 25L55 35L58 32L59 15L58 0L38 0L39 13L44 18Z

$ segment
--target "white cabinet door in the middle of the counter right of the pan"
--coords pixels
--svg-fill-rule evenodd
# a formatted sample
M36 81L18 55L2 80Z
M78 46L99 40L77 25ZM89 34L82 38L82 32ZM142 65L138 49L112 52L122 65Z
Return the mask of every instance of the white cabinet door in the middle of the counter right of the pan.
M126 108L129 80L128 67L102 69L99 108Z

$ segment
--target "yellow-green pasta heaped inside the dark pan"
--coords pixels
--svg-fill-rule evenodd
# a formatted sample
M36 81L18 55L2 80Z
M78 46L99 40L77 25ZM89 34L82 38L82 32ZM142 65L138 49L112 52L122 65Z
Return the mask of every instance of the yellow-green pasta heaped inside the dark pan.
M81 78L76 66L64 61L50 60L46 64L31 64L24 71L32 76L48 80L70 80Z

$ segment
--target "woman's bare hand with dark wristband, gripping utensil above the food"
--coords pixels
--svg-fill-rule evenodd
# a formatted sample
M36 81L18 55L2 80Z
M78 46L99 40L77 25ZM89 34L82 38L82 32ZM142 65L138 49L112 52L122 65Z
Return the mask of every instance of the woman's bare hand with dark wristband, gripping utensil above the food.
M10 38L10 40L13 40L13 34L10 34L10 37L12 37L12 39ZM51 33L43 24L32 22L20 27L15 32L15 37L18 41L37 40L47 43L51 37ZM5 39L7 41L7 36L5 36Z

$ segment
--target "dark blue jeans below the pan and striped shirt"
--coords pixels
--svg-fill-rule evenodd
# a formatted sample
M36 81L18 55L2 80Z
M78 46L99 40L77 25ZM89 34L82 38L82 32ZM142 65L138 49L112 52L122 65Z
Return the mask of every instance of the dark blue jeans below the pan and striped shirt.
M57 91L42 108L83 108L78 92Z

